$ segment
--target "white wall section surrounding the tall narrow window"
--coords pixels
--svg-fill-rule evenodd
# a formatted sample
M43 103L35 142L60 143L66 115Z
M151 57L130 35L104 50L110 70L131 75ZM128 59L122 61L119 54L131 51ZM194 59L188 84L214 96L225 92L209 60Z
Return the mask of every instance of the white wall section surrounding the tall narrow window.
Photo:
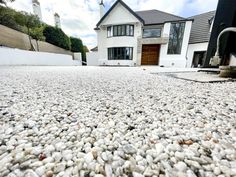
M171 27L171 23L165 23L164 29L163 29L164 36L169 37L170 27ZM192 21L187 21L185 24L185 31L184 31L181 54L169 55L167 54L168 43L165 45L161 45L159 65L162 65L165 67L186 67L186 58L187 58L187 50L188 50L191 27L192 27Z

